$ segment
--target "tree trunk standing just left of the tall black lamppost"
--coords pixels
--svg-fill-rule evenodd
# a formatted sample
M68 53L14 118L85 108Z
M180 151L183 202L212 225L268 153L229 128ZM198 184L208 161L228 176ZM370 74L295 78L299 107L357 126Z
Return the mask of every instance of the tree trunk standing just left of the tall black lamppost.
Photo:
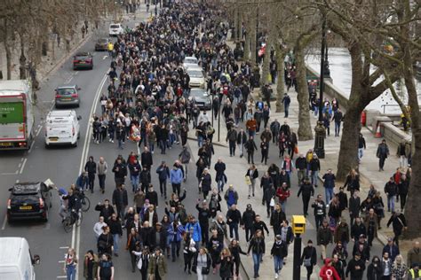
M306 82L306 62L304 61L304 51L295 50L297 66L297 99L298 99L298 140L307 141L313 139L312 125L308 105L308 87ZM283 75L283 74L282 74Z

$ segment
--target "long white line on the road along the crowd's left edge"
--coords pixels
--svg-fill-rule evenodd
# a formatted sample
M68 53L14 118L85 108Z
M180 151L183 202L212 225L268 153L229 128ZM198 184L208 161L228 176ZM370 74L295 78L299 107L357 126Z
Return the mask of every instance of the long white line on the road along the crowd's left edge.
M82 173L84 163L88 159L88 152L89 152L89 146L91 145L91 123L89 120L91 119L91 116L93 113L95 113L95 110L97 108L99 97L101 95L101 90L104 87L105 83L107 82L107 74L104 74L104 77L102 78L102 81L99 83L99 87L97 89L97 92L95 93L95 97L93 98L93 103L91 106L91 112L88 115L88 128L86 128L86 135L84 137L84 143L83 143L83 151L82 151L82 157L81 162L79 166L79 174ZM75 224L73 225L73 231L72 231L72 248L75 248L76 253L79 253L79 247L80 247L80 235L81 235L81 227L76 227ZM77 256L78 257L78 256ZM79 263L76 264L76 270L79 266ZM76 273L75 280L78 280L79 274Z

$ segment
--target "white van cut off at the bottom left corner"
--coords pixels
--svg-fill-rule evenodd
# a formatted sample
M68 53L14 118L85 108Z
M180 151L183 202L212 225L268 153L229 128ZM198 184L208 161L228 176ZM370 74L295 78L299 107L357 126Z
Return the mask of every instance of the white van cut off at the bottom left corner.
M0 279L36 280L34 264L39 256L31 256L28 241L22 237L0 237Z

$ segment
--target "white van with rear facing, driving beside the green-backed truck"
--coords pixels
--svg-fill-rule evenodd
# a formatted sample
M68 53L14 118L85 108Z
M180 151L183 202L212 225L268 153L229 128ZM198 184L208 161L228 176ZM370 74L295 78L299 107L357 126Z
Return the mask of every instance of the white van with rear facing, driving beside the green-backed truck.
M45 120L45 147L59 144L77 146L81 117L75 110L58 110L48 113Z

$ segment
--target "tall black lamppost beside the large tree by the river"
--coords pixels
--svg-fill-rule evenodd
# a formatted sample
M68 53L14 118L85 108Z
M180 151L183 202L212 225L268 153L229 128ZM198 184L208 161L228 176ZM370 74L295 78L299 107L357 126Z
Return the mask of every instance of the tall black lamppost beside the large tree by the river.
M322 61L320 66L320 96L319 96L319 120L314 128L315 139L314 139L314 152L317 154L319 159L324 159L324 137L326 136L326 128L323 125L323 90L324 90L324 76L326 70L329 71L329 65L325 64L327 59L327 44L326 44L326 16L322 19ZM330 71L329 71L330 74Z

